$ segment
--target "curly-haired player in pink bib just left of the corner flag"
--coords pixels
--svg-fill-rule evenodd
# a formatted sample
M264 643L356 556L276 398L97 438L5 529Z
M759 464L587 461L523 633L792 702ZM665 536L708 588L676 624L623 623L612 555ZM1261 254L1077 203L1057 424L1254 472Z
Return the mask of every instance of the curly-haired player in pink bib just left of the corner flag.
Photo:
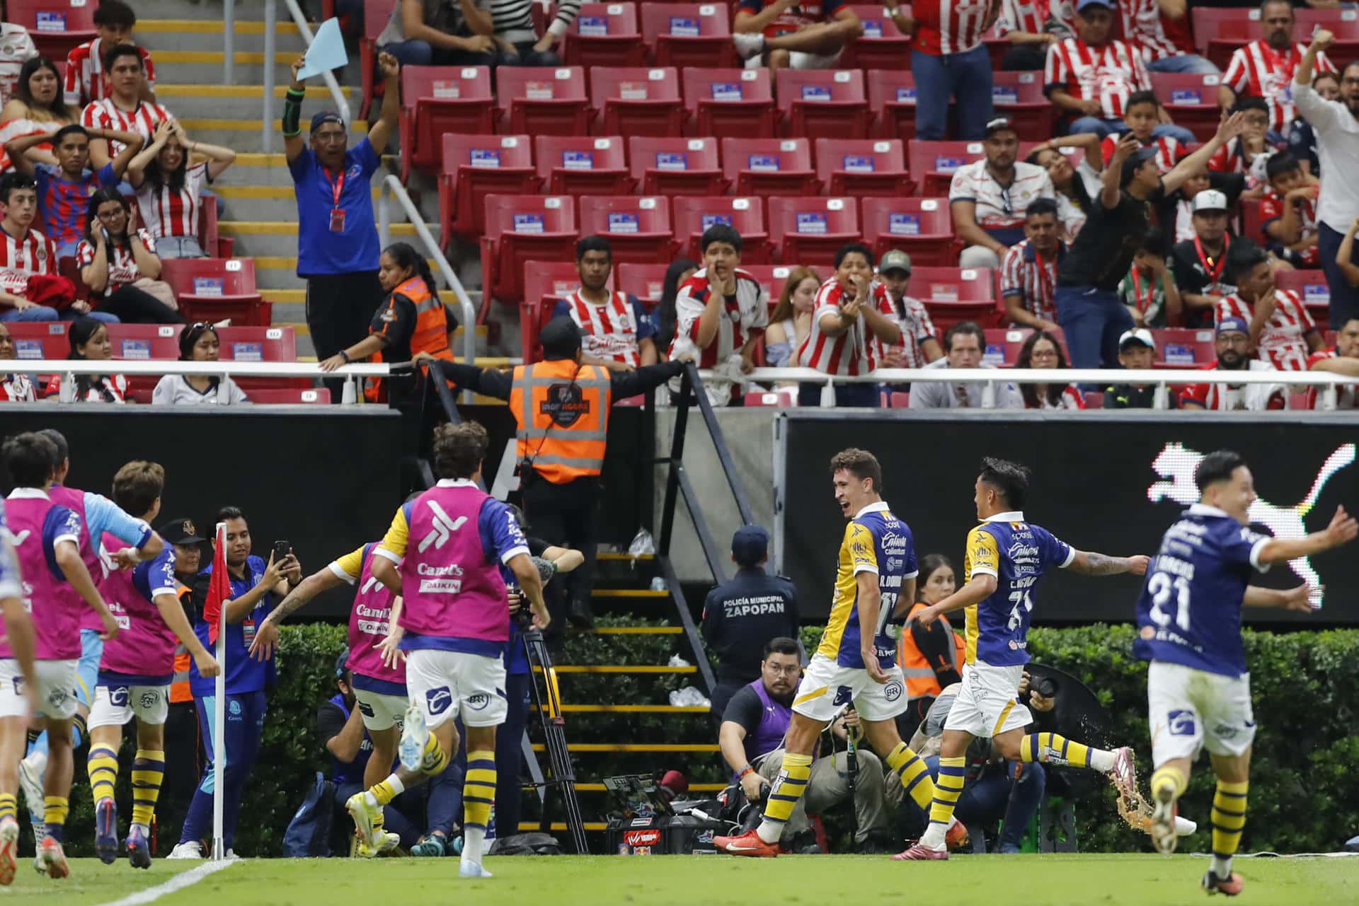
M160 512L166 471L159 463L133 460L113 477L113 501L139 519ZM118 781L122 727L137 719L137 755L132 762L132 826L125 849L133 868L151 868L151 819L166 773L164 728L170 714L170 681L175 644L193 655L198 672L216 676L217 662L193 634L179 604L173 545L155 560L121 569L122 541L105 532L106 576L99 591L122 632L103 647L99 685L90 709L90 788L94 793L95 853L106 864L118 858L118 812L113 788ZM126 560L126 554L122 557Z

